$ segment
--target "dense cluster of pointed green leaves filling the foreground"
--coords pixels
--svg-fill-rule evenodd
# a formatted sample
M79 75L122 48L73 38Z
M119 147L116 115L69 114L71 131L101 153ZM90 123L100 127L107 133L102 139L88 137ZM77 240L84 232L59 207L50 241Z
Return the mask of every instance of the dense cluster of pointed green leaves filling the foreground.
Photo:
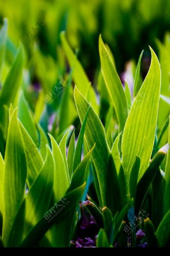
M100 68L94 65L90 80L69 33L58 28L55 35L46 18L29 34L41 38L47 30L51 55L27 30L16 47L7 19L0 30L0 247L168 246L170 35L156 40L159 60L150 47L146 77L142 51L123 84L100 35L91 56ZM84 241L78 234L90 225L95 234Z

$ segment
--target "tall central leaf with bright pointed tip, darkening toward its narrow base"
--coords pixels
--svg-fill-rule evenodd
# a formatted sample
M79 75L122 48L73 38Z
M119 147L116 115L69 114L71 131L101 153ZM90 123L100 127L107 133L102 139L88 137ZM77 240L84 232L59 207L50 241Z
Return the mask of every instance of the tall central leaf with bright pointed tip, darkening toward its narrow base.
M83 95L79 92L77 87L74 89L74 99L76 103L76 108L79 114L81 123L85 118L85 114L89 107L89 103L85 100ZM101 120L94 112L93 108L90 107L88 118L85 127L85 139L87 141L88 148L92 148L96 143L96 146L92 153L92 159L95 165L97 177L99 180L99 187L102 197L102 206L107 206L106 204L106 170L107 161L109 158L109 147L105 138L105 131Z

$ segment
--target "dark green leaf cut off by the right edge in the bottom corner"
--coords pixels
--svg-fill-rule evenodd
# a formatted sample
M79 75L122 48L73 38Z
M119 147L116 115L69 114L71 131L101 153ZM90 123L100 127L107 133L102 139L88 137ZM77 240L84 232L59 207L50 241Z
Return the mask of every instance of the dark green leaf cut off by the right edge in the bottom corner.
M159 247L167 247L170 244L170 210L165 215L156 230Z

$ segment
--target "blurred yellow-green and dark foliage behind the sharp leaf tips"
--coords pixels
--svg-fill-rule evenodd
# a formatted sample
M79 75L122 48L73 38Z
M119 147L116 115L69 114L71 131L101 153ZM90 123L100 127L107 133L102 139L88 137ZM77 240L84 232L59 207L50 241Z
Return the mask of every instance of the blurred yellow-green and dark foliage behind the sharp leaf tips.
M108 126L113 109L110 109L110 99L104 89L100 71L99 35L102 34L103 41L113 52L120 79L124 83L126 78L132 89L136 63L142 49L145 50L141 62L143 78L150 66L148 45L162 58L162 63L164 56L166 61L169 59L169 13L169 0L0 0L0 26L4 18L8 19L6 56L0 84L5 81L22 41L25 52L22 90L34 113L35 122L40 122L45 132L50 130L58 141L69 125L80 128L73 100L73 86L65 90L65 93L63 90L67 87L66 82L72 81L74 66L70 65L68 56L66 58L67 47L63 47L60 41L61 31L66 31L68 44L89 79L86 82L91 82L97 93L97 101L93 99L95 102L92 106L96 102L100 103L100 107L94 108L103 124ZM164 46L161 41L165 42L167 52L162 48ZM164 70L164 75L163 88L167 88L167 91L162 94L170 97L169 71ZM49 102L50 97L54 98L54 88L59 94ZM93 90L89 93L89 100L94 98L92 94ZM163 105L167 104L165 100L162 101ZM159 115L158 131L167 113L162 117ZM113 130L113 127L115 120L110 129Z

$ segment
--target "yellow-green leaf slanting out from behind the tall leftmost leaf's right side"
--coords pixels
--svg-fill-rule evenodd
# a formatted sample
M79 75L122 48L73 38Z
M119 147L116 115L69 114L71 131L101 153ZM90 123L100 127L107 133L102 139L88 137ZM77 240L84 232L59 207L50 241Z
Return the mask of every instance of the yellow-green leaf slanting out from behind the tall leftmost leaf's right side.
M30 137L20 121L19 128L23 139L25 158L27 161L27 184L30 188L34 182L34 179L37 177L39 171L41 170L43 159L36 145L34 144L33 139Z

